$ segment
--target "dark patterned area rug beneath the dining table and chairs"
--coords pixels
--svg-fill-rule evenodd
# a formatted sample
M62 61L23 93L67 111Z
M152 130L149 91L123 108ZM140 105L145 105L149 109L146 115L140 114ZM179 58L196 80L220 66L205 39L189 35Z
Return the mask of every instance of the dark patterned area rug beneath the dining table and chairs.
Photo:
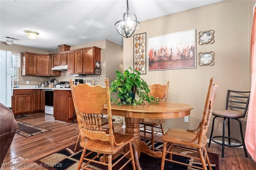
M40 158L34 162L37 164L40 164L44 166L44 168L48 170L76 170L78 166L78 162L80 159L80 156L82 154L82 148L78 146L78 149L74 151L75 144L68 146L66 148L63 148L59 150L58 152L54 152L52 154L49 154L48 156L45 156L43 158ZM161 142L156 142L155 147L158 150L162 149L162 143ZM187 154L187 153L186 153ZM96 153L92 156L95 156ZM213 170L219 170L219 156L218 154L213 154L213 153L208 153L208 156L210 158L210 162L212 164L212 169ZM196 166L201 166L202 164L200 162L196 162L194 160L189 160L188 158L182 157L182 156L174 156L174 160L179 160L182 162L185 162L187 164L194 164ZM161 158L155 158L148 156L147 154L141 153L140 154L140 166L142 170L160 170L161 166ZM113 161L114 163L114 161ZM120 168L122 166L124 161L118 163L114 169ZM90 168L94 170L107 170L107 166L91 163ZM124 170L131 170L132 165L129 163ZM180 165L180 164L175 164L172 162L165 162L164 170L188 170L187 166ZM194 169L194 168L191 168Z

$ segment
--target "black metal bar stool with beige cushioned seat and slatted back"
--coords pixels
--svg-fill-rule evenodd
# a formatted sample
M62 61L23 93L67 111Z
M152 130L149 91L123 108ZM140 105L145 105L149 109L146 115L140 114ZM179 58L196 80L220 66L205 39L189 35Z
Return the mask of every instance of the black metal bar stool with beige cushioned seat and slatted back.
M245 156L248 157L246 152L246 146L244 144L242 123L239 119L245 117L247 113L248 105L249 105L249 100L250 100L250 91L228 90L227 97L226 97L226 109L218 109L212 112L212 115L214 116L214 118L212 120L212 131L211 131L208 147L210 147L211 141L222 145L222 155L221 155L222 158L224 158L224 146L229 146L229 147L243 146ZM214 121L218 117L223 119L222 136L212 136L212 133L214 130ZM226 136L225 134L226 119L228 119L228 136ZM240 136L242 141L240 141L237 138L230 137L230 119L238 121L240 125ZM214 138L222 138L220 139L222 141L221 142L216 141L214 140ZM228 144L225 143L225 139L228 139ZM233 142L231 144L230 140L236 143Z

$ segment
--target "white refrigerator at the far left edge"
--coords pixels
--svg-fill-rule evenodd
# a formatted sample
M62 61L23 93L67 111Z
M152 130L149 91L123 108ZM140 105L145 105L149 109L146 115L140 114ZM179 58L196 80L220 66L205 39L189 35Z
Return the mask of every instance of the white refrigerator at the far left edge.
M12 107L13 93L13 64L12 52L1 51L0 55L0 103L6 107Z

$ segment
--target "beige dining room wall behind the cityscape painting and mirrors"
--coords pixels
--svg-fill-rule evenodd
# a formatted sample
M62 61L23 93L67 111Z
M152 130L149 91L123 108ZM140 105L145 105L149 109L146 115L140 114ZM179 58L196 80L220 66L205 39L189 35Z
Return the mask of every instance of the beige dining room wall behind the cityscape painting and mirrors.
M215 83L220 83L214 109L225 108L228 89L250 90L249 45L254 3L255 1L222 1L141 22L139 33L146 32L147 41L154 36L196 29L196 68L147 71L146 75L142 75L148 84L166 84L169 80L168 101L187 103L194 107L189 123L184 123L184 118L168 119L164 124L165 130L170 127L198 127L210 77L214 77ZM206 30L215 31L215 42L198 45L198 33ZM215 53L215 64L199 66L198 53L210 51ZM132 38L124 39L124 67L129 66L133 67ZM218 127L216 132L221 133L222 121L216 120L215 123L216 128ZM242 123L245 130L246 120L242 120ZM237 124L232 124L231 129L237 136L239 131L235 126L238 127Z

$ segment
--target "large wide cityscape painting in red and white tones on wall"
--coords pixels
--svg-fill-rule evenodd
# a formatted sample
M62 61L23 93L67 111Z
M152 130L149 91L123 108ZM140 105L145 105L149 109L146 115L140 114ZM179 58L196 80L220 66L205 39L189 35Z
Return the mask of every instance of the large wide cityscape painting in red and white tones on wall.
M148 71L196 68L196 29L148 38Z

